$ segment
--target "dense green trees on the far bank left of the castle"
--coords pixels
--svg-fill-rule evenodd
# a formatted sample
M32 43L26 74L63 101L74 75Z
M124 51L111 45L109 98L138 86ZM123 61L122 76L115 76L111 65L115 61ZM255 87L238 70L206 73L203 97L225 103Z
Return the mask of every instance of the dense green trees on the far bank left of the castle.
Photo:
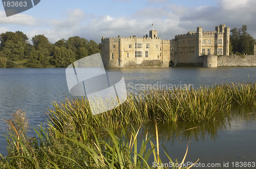
M0 34L0 68L18 67L26 60L26 67L67 67L83 57L100 53L100 45L79 36L51 43L45 35L32 37L20 31Z

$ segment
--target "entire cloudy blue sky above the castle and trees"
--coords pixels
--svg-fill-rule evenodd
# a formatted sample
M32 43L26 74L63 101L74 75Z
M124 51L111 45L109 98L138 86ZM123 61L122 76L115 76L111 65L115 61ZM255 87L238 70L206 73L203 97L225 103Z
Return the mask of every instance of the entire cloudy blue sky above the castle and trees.
M177 34L214 31L225 24L232 28L247 25L256 38L255 0L41 0L35 7L6 17L0 5L0 33L22 31L31 39L44 34L55 41L80 36L100 42L104 37L142 37L154 29L161 39Z

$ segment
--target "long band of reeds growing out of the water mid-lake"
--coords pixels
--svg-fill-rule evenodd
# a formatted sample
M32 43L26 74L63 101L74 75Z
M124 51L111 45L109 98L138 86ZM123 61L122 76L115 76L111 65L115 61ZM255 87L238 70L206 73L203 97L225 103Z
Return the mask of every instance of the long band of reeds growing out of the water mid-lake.
M88 100L66 99L46 112L52 132L63 134L66 126L73 126L80 139L92 135L88 126L96 133L103 133L110 124L114 129L125 124L146 122L216 122L230 110L232 105L256 105L256 86L253 83L222 84L197 89L174 89L143 91L139 95L130 93L118 107L92 115ZM86 135L82 135L87 131Z

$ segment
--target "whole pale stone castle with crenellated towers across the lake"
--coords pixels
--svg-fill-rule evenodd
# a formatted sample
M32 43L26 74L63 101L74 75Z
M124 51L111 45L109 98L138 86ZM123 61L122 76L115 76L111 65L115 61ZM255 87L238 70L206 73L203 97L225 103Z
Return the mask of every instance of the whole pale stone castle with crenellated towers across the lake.
M101 38L101 55L105 67L203 66L205 55L229 55L229 32L226 25L215 31L189 31L172 40L161 40L157 30L150 36Z

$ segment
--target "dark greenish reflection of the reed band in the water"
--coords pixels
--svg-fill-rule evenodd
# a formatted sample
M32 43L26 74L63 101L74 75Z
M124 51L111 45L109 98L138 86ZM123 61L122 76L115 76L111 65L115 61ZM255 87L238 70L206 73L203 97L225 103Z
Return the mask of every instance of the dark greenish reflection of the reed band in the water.
M256 107L253 106L233 106L232 110L219 113L217 122L211 123L195 123L195 122L179 122L179 123L166 123L157 124L159 141L161 143L187 142L196 141L204 142L207 140L218 139L218 134L223 130L244 130L247 123L255 122L256 120ZM137 131L140 125L133 125ZM130 137L132 131L131 125L127 125L126 134ZM138 140L143 140L147 136L155 140L156 127L155 122L145 123L141 125L138 134Z

